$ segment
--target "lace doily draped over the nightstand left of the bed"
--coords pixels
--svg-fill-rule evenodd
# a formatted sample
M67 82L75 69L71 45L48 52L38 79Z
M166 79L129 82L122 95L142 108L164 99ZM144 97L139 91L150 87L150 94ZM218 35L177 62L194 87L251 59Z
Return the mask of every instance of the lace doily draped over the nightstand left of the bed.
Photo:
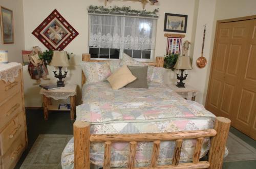
M51 97L54 100L59 99L68 99L70 96L76 95L76 87L77 85L74 84L66 84L65 87L61 87L60 89L54 90L45 90L41 89L40 94L44 94L46 97Z

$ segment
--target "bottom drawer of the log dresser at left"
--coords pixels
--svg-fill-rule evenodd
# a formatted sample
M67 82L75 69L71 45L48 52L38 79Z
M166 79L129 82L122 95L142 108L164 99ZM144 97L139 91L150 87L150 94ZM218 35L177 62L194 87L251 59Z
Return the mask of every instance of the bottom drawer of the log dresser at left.
M14 168L25 149L25 133L21 133L15 142L11 145L11 148L2 156L2 169Z

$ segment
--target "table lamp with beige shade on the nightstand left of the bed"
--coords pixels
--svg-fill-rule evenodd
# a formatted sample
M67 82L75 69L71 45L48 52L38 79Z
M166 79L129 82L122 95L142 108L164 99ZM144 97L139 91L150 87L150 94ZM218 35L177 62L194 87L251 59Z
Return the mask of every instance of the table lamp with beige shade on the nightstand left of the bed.
M57 86L58 87L65 87L64 80L62 78L67 77L67 67L69 67L69 59L66 51L53 51L52 55L52 61L50 63L50 66L54 66L54 76L58 78L59 80L57 81ZM55 71L55 67L59 68L59 74L56 74L57 71ZM62 74L62 67L66 67L65 74Z

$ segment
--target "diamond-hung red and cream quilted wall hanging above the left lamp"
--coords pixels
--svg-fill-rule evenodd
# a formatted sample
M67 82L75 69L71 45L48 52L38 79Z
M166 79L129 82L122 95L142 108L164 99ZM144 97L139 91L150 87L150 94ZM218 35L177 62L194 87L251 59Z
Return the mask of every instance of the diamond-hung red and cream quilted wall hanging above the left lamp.
M49 50L63 50L78 32L55 9L32 34Z

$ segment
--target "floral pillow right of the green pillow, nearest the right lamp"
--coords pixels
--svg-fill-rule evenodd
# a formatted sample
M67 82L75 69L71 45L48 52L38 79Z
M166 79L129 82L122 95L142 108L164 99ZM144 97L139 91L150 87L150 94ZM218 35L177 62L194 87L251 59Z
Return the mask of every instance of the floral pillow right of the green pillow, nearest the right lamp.
M147 68L147 81L163 83L165 72L166 72L165 68L155 67L155 66L148 66L148 68Z

